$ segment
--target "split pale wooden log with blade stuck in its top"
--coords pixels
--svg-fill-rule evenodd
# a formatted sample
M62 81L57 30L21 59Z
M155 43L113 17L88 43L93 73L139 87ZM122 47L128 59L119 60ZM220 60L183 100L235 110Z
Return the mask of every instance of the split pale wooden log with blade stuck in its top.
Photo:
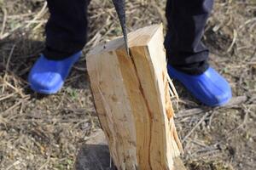
M173 170L177 137L162 26L99 45L87 57L96 112L119 170ZM172 86L173 87L173 86ZM171 93L170 93L171 92Z

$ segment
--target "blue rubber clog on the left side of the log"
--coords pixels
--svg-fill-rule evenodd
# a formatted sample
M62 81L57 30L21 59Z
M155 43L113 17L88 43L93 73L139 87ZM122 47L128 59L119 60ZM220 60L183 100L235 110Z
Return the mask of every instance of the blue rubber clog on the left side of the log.
M80 58L82 52L73 54L67 59L51 60L42 54L28 76L32 90L39 94L55 94L63 86L73 64Z

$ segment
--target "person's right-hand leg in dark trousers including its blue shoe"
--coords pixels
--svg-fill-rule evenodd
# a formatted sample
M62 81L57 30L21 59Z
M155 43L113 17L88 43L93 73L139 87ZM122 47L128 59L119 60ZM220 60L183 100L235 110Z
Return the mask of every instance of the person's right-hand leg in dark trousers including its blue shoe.
M165 47L170 77L182 82L201 103L226 104L232 97L229 83L212 69L201 37L213 0L168 0Z

